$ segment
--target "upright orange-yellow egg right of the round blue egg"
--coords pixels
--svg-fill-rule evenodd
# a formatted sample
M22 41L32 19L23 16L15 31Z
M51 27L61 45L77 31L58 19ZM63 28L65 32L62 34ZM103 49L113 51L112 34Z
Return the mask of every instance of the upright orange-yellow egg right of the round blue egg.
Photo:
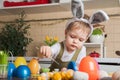
M39 72L39 63L36 58L32 58L28 63L28 67L32 74L37 74Z

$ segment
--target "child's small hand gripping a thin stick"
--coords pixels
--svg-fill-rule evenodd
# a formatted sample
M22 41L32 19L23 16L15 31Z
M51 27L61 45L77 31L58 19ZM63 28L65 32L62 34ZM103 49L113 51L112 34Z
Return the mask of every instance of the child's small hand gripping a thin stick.
M39 54L49 58L51 56L51 48L49 46L42 46Z

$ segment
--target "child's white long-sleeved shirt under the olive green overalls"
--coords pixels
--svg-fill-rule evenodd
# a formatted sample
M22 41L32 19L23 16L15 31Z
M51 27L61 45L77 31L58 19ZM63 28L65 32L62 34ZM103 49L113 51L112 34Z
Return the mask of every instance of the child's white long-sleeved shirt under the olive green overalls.
M61 50L61 45L60 43L56 43L55 45L53 45L51 47L51 50L52 50L52 56L53 58L55 59L57 57L57 55L59 54L60 50ZM66 47L64 45L64 52L63 52L63 55L61 57L61 60L63 62L67 62L67 61L70 61L73 57L73 55L75 54L76 51L73 51L72 54L69 54L68 51L66 50ZM81 62L81 60L83 59L83 57L86 56L86 47L83 46L81 48L81 51L76 59L76 63L77 65Z

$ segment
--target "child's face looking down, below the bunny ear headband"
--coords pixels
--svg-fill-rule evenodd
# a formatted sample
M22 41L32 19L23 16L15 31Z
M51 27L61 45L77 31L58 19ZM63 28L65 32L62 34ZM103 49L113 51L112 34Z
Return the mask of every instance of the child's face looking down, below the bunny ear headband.
M80 49L87 40L88 32L82 29L75 29L65 32L65 44L69 52Z

